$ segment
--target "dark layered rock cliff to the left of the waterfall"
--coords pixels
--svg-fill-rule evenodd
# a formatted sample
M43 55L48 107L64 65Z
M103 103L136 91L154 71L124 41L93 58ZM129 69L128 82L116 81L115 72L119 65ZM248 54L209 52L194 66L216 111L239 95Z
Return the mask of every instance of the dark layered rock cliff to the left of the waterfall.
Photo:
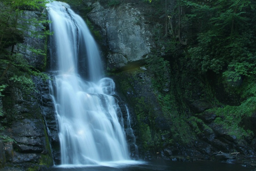
M41 15L38 11L25 10L22 17L29 20L38 19ZM19 53L22 59L34 68L44 71L46 56L36 55L31 51L31 47L45 52L46 40L30 37L29 33L40 31L43 26L31 25L29 27L25 31L27 36L24 37L23 46L16 45L14 53ZM38 79L31 77L35 83L40 82ZM37 86L24 91L23 87L17 84L10 84L3 92L4 96L0 100L0 110L3 114L0 117L0 168L44 170L53 165L48 127L45 122L46 113L53 111L53 109L46 108L47 105L52 107L51 102L48 101L48 104L44 102L44 94L49 95L49 86L48 82L45 82L44 86L39 86L39 84ZM54 126L56 127L55 123ZM49 128L51 128L50 123Z

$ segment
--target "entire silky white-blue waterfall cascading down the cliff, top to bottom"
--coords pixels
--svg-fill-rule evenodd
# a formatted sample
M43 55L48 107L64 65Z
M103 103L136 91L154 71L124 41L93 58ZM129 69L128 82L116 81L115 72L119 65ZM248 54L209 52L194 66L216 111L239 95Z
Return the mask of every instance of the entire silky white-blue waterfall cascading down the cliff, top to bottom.
M97 45L83 19L68 4L48 4L51 55L56 76L50 85L59 122L61 164L99 164L129 160L124 129L112 96L115 84L103 78ZM88 80L78 73L80 59L87 59ZM80 66L81 67L81 66Z

